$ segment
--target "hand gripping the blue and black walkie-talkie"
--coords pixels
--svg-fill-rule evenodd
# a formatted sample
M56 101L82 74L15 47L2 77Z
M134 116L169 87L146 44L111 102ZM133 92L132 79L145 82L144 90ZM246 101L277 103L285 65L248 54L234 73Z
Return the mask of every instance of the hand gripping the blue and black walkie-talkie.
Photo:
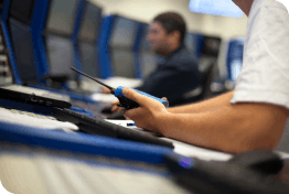
M158 100L140 95L137 91L124 88L124 96L139 104L139 108L126 110L124 116L133 120L137 127L161 132L160 118L169 114L165 107ZM167 98L163 98L167 99Z

